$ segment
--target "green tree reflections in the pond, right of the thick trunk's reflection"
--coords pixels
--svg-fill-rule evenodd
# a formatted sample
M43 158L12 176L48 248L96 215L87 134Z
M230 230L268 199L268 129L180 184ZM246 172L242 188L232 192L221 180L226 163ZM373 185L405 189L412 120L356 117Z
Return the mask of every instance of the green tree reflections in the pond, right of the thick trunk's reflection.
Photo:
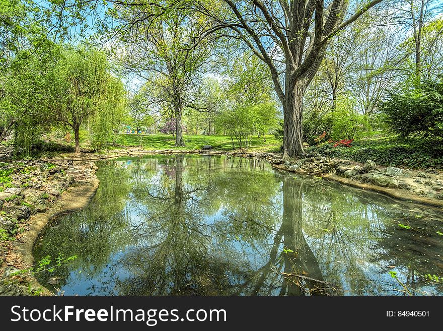
M432 209L394 202L357 189L343 189L322 180L305 187L308 207L304 211L304 230L310 236L311 248L325 278L344 293L401 294L394 291L399 283L389 271L401 271L405 274L404 282L408 283L416 264L423 269L435 266L437 270L431 269L441 272L441 257L437 257L437 252L441 252L442 244L436 238L435 222L426 225L421 220L421 212L429 219ZM434 214L433 218L438 216ZM426 228L426 235L417 237L399 228L398 223L410 222L405 219L414 220L421 231Z

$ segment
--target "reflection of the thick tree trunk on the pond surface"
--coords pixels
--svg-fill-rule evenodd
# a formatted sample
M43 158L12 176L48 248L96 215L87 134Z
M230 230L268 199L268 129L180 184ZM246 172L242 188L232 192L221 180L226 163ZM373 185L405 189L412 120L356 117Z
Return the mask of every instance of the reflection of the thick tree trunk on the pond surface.
M292 252L284 253L284 272L306 276L324 282L317 258L308 246L302 231L302 184L297 184L292 177L283 180L283 222L284 247ZM283 289L289 295L303 294L307 287L312 295L324 294L323 283L306 278L291 277L286 279ZM304 286L302 286L302 283Z

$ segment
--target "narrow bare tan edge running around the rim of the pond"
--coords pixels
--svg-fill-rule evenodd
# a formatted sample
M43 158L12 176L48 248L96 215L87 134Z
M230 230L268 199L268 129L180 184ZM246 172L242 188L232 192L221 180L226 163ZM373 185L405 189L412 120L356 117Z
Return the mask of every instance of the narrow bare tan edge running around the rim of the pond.
M54 163L69 163L69 162L80 162L84 161L94 162L100 160L107 160L119 157L131 157L140 155L156 155L156 154L199 154L199 155L229 155L238 156L244 158L259 158L268 161L271 166L275 169L288 172L303 173L308 175L317 175L325 178L327 180L333 180L341 184L349 185L363 190L371 190L379 192L390 196L391 198L408 201L418 204L424 204L433 207L443 207L443 201L437 198L426 198L416 194L408 194L405 189L402 188L390 188L381 187L371 183L361 183L349 178L343 178L335 173L328 173L322 171L309 171L309 169L303 168L293 168L293 164L296 164L297 160L285 160L281 155L273 153L262 153L262 152L225 152L225 151L205 151L205 150L190 150L190 151L180 151L180 150L163 150L163 151L140 151L140 150L124 150L119 151L115 154L107 154L103 156L95 156L88 158L59 158L59 159L44 159L39 160L40 162L54 162ZM348 162L348 161L344 161ZM289 167L292 166L292 170ZM94 163L94 167L97 166ZM73 169L72 169L73 171ZM75 177L75 176L74 176ZM77 178L76 178L77 179ZM76 210L83 209L89 205L92 198L97 192L99 187L99 179L95 175L95 171L90 174L88 180L81 181L77 185L69 186L64 194L61 195L58 201L54 203L46 212L37 213L32 216L30 229L22 234L17 241L13 242L13 251L16 252L19 258L26 266L33 266L35 263L34 259L34 245L40 233L45 229L46 226L51 224L51 221L62 214L74 212ZM34 276L28 278L28 283L34 288L41 290L42 295L53 295L47 288L38 283Z

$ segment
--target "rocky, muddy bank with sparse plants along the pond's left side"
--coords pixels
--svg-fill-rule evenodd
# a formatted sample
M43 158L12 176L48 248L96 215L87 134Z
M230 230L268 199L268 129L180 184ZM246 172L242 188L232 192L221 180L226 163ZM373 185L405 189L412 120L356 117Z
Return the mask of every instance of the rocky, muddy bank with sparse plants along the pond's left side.
M35 241L53 216L88 205L99 185L96 169L93 162L2 164L8 175L0 184L0 295L49 294L30 271Z

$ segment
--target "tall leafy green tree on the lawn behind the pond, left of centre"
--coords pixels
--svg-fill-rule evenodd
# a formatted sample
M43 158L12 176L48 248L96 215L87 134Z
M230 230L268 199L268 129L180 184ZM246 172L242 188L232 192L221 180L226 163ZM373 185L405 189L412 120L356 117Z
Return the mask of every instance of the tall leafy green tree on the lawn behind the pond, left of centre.
M175 120L176 146L185 146L182 116L190 103L190 89L207 64L213 43L194 40L205 33L205 19L189 10L189 2L162 1L143 6L119 6L111 11L112 33L126 72L146 82L146 103ZM167 9L166 7L169 6ZM143 19L140 19L143 17ZM191 25L189 22L198 22Z

